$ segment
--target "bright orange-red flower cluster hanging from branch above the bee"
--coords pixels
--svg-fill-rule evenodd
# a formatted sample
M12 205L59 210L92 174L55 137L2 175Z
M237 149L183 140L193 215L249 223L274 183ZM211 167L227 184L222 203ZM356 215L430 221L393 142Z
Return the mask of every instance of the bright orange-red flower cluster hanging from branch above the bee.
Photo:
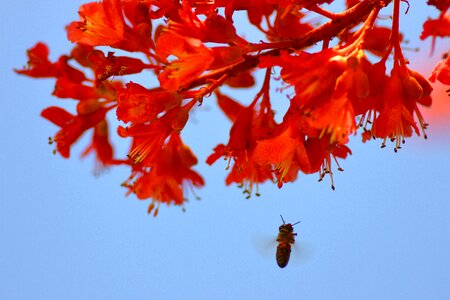
M332 0L103 0L84 4L79 21L67 27L70 54L49 60L48 47L28 50L28 66L16 70L35 78L54 78L53 95L76 101L76 112L52 106L42 116L60 127L50 143L70 156L85 133L99 168L126 165L122 184L138 199L183 206L187 192L204 185L193 169L197 158L182 141L193 110L214 95L231 120L227 143L206 159L228 161L226 184L243 187L247 197L258 185L293 182L299 173L329 176L342 170L347 146L358 132L363 141L394 142L397 151L414 133L425 135L420 106L430 106L432 87L408 67L399 32L401 0L347 0L346 9L326 10ZM392 2L392 3L391 3ZM429 1L441 10L424 24L421 38L450 35L448 1ZM392 24L379 24L380 11L392 6ZM267 40L252 43L237 33L234 20L245 12ZM311 17L313 16L313 17ZM317 21L317 20L321 21ZM318 50L317 45L321 44ZM110 51L106 52L105 47ZM115 49L115 50L114 50ZM116 52L121 55L117 55ZM237 101L227 89L249 88L265 72L251 101ZM126 75L154 76L158 86L125 81ZM92 74L92 75L89 75ZM431 81L449 84L449 59ZM272 109L271 84L280 81L288 109L281 121ZM291 91L284 93L283 91ZM130 141L117 158L107 116L115 113L119 137ZM336 167L334 167L336 166Z

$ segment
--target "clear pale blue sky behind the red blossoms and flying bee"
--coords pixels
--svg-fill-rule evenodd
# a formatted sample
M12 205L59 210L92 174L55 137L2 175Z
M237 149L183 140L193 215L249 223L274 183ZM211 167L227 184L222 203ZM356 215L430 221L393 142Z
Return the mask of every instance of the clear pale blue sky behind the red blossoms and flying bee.
M412 39L424 2L410 1L402 24L411 47L429 45ZM53 59L68 51L64 26L81 3L6 1L0 12L1 299L449 297L450 117L448 124L429 120L429 140L415 137L397 154L355 137L334 192L328 180L300 176L245 200L224 186L223 164L203 163L229 130L207 100L185 134L207 181L202 199L185 213L162 206L153 218L148 202L124 196L127 170L95 177L92 160L77 158L86 139L70 160L52 155L47 138L56 128L39 113L56 104L53 81L12 73L36 41L48 43ZM274 245L262 249L280 214L302 221L295 226L300 249L285 269L275 263Z

